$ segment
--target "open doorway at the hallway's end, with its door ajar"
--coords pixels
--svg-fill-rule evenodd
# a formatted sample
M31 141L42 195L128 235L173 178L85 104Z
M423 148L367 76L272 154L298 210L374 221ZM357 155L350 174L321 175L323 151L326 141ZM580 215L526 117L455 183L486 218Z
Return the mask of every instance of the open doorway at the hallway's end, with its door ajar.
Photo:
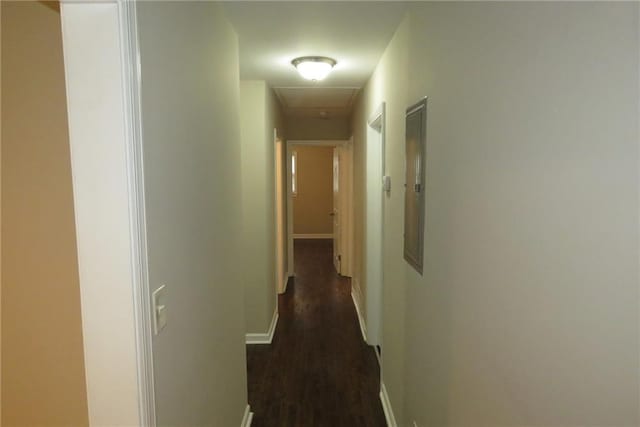
M295 239L331 239L336 272L352 275L352 146L351 140L287 142L290 272Z

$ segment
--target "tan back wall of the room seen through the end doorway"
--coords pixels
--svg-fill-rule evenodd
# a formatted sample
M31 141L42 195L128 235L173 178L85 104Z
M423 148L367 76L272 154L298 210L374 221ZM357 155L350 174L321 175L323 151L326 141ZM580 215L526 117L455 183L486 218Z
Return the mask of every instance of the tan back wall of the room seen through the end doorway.
M293 197L294 234L332 234L333 147L294 145L297 195Z

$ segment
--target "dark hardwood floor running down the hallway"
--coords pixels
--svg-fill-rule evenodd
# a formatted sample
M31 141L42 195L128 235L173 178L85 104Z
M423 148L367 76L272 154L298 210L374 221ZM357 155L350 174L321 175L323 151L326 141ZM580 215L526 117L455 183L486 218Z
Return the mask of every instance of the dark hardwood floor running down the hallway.
M247 346L252 427L386 425L378 361L331 257L331 240L295 241L273 342Z

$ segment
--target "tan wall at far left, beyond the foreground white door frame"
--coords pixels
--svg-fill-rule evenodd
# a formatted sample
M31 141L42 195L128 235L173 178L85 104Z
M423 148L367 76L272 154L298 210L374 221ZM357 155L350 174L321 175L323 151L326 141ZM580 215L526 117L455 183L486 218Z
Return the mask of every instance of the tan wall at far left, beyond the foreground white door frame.
M2 2L2 425L88 424L56 8Z

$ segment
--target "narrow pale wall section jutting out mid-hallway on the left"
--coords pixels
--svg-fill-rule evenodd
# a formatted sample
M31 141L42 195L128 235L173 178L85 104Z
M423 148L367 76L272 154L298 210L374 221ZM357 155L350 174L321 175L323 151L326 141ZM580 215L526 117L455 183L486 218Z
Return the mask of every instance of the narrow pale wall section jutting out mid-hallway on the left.
M241 272L246 332L266 333L276 310L273 129L283 138L284 125L280 104L263 80L240 82L240 105L243 258L252 265Z

